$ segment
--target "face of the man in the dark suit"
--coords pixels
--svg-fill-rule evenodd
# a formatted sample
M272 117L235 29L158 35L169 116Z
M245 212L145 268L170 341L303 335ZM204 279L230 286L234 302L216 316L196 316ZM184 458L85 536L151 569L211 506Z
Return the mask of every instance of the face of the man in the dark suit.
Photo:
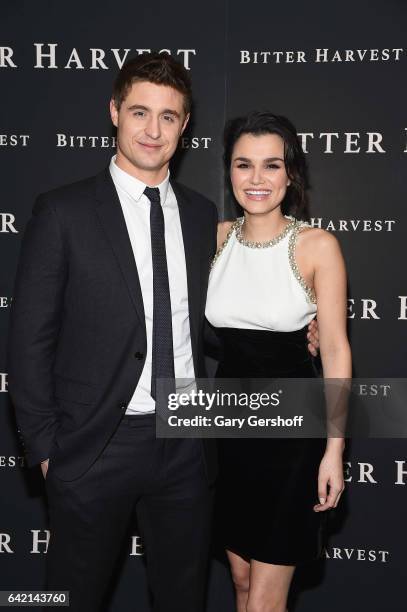
M132 85L120 110L112 100L117 165L150 186L160 183L188 123L183 103L176 89L148 81Z

